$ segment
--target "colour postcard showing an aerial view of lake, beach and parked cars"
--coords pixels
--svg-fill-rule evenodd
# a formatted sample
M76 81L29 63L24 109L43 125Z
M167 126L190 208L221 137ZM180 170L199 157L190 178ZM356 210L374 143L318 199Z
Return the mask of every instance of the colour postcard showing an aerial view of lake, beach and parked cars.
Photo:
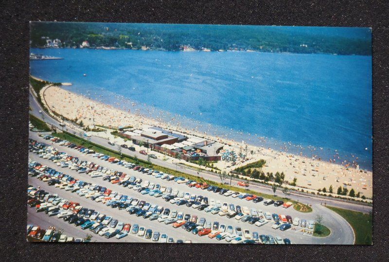
M370 28L30 33L27 241L372 244Z

